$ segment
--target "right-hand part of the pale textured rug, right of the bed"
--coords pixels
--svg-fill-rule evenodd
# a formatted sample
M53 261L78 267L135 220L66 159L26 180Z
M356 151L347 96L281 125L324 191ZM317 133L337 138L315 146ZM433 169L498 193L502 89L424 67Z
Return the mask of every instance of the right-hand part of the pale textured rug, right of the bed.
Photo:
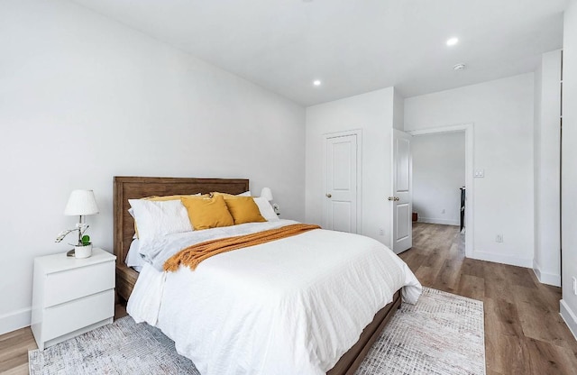
M417 305L402 304L355 374L484 373L483 303L424 288Z

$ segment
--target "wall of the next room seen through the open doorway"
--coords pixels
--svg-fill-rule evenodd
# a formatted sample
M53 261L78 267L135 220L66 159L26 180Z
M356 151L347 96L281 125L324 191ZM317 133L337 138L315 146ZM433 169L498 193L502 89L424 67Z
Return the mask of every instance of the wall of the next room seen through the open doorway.
M465 133L417 135L413 151L413 212L418 221L461 223L461 190L465 186Z

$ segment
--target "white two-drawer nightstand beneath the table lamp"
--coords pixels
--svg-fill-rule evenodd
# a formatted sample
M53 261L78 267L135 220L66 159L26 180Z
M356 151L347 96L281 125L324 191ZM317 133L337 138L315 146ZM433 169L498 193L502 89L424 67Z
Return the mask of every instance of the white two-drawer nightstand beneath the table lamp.
M112 323L115 260L97 248L86 259L66 252L34 259L32 333L39 349Z

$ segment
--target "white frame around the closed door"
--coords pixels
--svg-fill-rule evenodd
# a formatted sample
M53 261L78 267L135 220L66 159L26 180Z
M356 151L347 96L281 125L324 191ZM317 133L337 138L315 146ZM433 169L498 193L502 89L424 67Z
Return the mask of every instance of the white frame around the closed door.
M356 135L357 137L357 234L362 234L362 129L353 129L343 132L323 134L323 225L326 225L326 142L329 138L346 137Z

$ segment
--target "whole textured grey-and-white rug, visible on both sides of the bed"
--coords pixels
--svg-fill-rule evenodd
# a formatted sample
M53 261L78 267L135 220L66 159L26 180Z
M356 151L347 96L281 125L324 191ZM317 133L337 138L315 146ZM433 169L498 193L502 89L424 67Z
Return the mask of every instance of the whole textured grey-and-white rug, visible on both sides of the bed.
M37 374L194 374L174 343L130 316L87 334L28 352ZM425 288L417 305L403 304L373 344L358 375L485 373L483 304Z

